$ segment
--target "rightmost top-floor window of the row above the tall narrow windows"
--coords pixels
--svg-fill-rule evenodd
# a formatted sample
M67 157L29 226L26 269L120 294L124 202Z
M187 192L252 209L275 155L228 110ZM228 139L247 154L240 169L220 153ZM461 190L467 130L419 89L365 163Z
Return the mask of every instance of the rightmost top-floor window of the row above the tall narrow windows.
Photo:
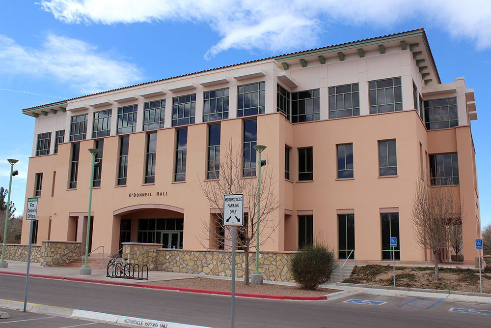
M237 87L237 117L264 114L265 82Z

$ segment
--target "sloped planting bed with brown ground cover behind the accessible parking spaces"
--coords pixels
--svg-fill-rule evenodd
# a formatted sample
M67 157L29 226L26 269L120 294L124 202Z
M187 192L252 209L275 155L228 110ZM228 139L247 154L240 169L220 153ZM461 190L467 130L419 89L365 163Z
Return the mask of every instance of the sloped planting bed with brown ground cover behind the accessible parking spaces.
M409 288L439 289L460 292L480 292L479 271L470 268L395 267L396 286ZM393 286L393 268L390 265L369 264L355 266L345 283ZM491 293L491 273L482 271L483 293Z

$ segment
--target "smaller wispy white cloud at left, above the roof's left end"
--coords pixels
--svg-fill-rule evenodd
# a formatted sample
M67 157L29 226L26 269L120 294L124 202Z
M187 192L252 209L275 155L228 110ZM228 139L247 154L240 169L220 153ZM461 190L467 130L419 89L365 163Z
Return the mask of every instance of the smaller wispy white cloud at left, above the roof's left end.
M53 77L83 93L116 89L142 80L139 69L80 40L49 34L41 49L17 44L0 34L3 73Z

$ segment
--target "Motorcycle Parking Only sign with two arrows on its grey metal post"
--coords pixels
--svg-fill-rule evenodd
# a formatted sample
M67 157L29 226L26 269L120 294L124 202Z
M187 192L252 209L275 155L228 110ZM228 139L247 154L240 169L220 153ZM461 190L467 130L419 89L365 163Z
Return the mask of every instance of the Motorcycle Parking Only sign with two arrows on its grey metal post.
M244 225L244 194L223 195L223 226L232 227L232 304L231 321L235 326L235 230Z

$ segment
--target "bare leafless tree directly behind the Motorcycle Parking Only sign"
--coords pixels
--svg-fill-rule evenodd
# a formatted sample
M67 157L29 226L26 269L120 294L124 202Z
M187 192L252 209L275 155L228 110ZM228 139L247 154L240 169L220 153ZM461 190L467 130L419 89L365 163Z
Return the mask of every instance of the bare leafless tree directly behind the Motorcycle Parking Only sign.
M223 195L244 194L244 209L248 209L248 213L244 215L244 226L237 227L235 242L244 251L244 283L248 286L249 253L256 250L258 179L254 168L252 170L244 168L243 151L234 149L232 142L229 142L228 147L224 150L220 153L220 160L209 165L213 168L212 177L219 179L200 182L210 208L216 211L209 221L203 221L203 236L201 236L200 243L207 249L217 249L221 248L220 246L227 248L232 245L232 227L223 226ZM277 179L266 165L261 171L260 245L270 239L279 224L269 215L280 207L278 195L274 189L275 182Z

